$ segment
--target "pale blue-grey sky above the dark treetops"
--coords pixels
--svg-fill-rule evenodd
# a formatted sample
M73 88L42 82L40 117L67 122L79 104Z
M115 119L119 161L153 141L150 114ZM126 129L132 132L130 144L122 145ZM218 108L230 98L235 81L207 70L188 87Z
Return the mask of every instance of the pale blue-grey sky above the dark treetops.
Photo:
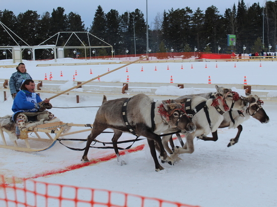
M273 0L272 0L273 1ZM220 0L220 1L207 1L207 0L148 0L148 24L151 25L154 22L154 18L158 13L163 13L164 10L168 11L171 8L174 10L189 7L193 12L199 7L203 12L207 7L214 5L218 8L221 15L224 14L227 8L232 8L235 4L238 5L239 0ZM252 6L253 3L258 3L260 6L264 6L265 0L244 0L247 7ZM101 6L105 13L108 13L111 9L117 10L119 14L124 12L133 12L135 9L139 9L145 15L146 20L146 0L133 1L133 0L1 0L0 10L10 10L17 16L19 13L24 13L27 10L37 11L39 15L45 12L52 13L53 9L57 7L63 7L65 14L70 12L77 13L84 21L86 28L92 24L95 11L98 6Z

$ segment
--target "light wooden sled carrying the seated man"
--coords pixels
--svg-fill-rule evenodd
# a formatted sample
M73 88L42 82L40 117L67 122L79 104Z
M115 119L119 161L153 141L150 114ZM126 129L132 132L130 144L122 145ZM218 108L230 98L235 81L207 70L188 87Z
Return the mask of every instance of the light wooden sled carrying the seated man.
M3 141L3 144L0 144L0 148L12 149L12 150L17 150L22 152L40 152L54 146L54 144L56 143L57 139L60 136L67 136L67 135L91 131L92 126L93 126L92 124L73 124L73 123L53 122L53 123L37 125L35 127L29 127L28 138L24 140L13 141L14 146L12 146L12 144L9 144L12 141L10 140L9 142L6 141L4 132L3 130L0 129L0 134ZM63 133L66 131L66 129L68 129L68 127L89 127L89 129ZM29 136L29 133L34 133L35 136ZM46 138L42 138L41 133L42 134L44 133L46 135ZM20 141L20 145L19 145L19 141ZM46 143L47 146L45 147L45 144L43 144L43 148L38 148L38 147L34 148L33 146L31 146L31 143L32 144L40 143L39 146L41 146L41 143Z

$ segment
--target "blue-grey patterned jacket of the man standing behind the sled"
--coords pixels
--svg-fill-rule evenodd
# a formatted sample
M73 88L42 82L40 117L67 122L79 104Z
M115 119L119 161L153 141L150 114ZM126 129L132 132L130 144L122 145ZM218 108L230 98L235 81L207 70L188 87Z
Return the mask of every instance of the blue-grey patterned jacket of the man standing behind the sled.
M20 90L23 80L27 79L32 79L27 72L21 73L20 71L17 71L13 73L9 81L11 94L17 93Z

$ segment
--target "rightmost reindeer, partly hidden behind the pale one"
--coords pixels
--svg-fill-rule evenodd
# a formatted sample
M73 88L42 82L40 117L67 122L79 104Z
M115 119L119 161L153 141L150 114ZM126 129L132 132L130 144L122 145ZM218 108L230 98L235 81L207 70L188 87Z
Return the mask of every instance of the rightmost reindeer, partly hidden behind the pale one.
M202 93L198 94L200 96L206 97L210 96L210 93ZM225 113L223 115L224 120L220 124L219 128L226 128L229 129L237 128L238 133L235 138L230 140L228 147L233 146L234 144L238 143L240 134L242 132L242 123L248 120L250 117L253 117L260 121L260 123L265 124L269 122L269 117L265 113L264 109L262 108L263 101L257 95L246 94L249 101L249 107L243 111L230 111L229 113ZM218 140L218 133L217 131L212 133L213 137L207 137L206 135L200 135L199 139L204 141L217 141Z

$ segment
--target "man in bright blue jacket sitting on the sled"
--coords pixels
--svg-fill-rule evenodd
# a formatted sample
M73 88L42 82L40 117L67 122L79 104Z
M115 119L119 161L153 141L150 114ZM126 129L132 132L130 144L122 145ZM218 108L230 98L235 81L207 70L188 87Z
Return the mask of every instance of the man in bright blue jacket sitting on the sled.
M17 123L16 134L20 135L21 139L26 139L28 138L28 129L25 125L28 121L36 122L41 119L50 121L56 118L52 113L44 111L51 108L52 105L49 103L49 99L45 98L42 102L39 95L35 93L34 81L31 79L25 80L14 99L12 107L14 112L12 119Z

